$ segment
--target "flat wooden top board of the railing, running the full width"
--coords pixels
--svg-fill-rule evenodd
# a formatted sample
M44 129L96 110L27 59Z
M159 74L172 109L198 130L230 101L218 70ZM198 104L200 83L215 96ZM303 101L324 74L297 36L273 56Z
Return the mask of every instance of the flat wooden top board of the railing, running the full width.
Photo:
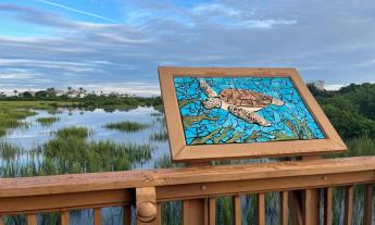
M284 178L375 170L375 157L313 161L67 174L0 179L0 197L21 197L197 183ZM375 177L374 177L375 178ZM328 183L328 180L327 180Z

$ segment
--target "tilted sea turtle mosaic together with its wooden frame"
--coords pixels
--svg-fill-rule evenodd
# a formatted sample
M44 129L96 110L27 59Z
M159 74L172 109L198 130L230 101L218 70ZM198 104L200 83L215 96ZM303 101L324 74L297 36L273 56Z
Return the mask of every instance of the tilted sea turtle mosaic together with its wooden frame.
M172 160L345 151L295 68L160 67Z

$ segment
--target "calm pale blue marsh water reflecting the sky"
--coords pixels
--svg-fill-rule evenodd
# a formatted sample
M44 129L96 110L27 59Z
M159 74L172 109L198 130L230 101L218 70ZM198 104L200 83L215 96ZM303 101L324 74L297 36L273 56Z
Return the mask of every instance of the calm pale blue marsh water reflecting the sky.
M142 164L133 165L136 168L152 168L154 160L168 154L168 143L166 140L151 140L152 134L164 130L164 117L153 108L138 108L130 111L104 110L82 111L60 109L58 111L36 110L37 114L24 120L26 126L9 130L8 135L0 141L7 141L24 150L30 150L46 143L52 139L54 133L61 128L72 126L84 126L91 130L88 140L113 140L116 143L129 142L137 145L151 145L153 147L152 157ZM42 125L37 120L40 117L55 116L58 122L50 125ZM105 128L108 123L117 123L123 121L138 122L148 124L146 129L139 132L121 132ZM133 167L133 168L134 168Z

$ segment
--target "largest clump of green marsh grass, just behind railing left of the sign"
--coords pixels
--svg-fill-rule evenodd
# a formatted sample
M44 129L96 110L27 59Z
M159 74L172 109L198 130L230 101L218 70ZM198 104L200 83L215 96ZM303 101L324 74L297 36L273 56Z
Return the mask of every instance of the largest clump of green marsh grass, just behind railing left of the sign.
M45 166L52 174L129 170L134 162L151 158L149 145L115 143L112 140L88 141L86 127L59 129L42 149Z

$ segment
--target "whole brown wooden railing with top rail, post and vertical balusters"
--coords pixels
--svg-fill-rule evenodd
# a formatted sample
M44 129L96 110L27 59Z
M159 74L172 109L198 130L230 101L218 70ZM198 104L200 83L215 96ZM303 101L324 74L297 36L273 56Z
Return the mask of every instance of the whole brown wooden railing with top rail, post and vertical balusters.
M183 200L183 224L215 224L215 199L232 196L237 225L241 224L239 196L254 193L258 224L265 224L265 193L280 191L282 224L291 220L310 225L318 224L318 191L323 190L324 223L332 224L333 188L343 186L345 224L351 224L353 185L364 184L363 224L370 225L374 183L375 157L3 178L0 216L25 214L32 225L37 213L60 212L61 224L67 225L70 211L93 209L99 225L102 208L123 207L124 224L130 224L133 205L137 224L161 224L161 202Z

